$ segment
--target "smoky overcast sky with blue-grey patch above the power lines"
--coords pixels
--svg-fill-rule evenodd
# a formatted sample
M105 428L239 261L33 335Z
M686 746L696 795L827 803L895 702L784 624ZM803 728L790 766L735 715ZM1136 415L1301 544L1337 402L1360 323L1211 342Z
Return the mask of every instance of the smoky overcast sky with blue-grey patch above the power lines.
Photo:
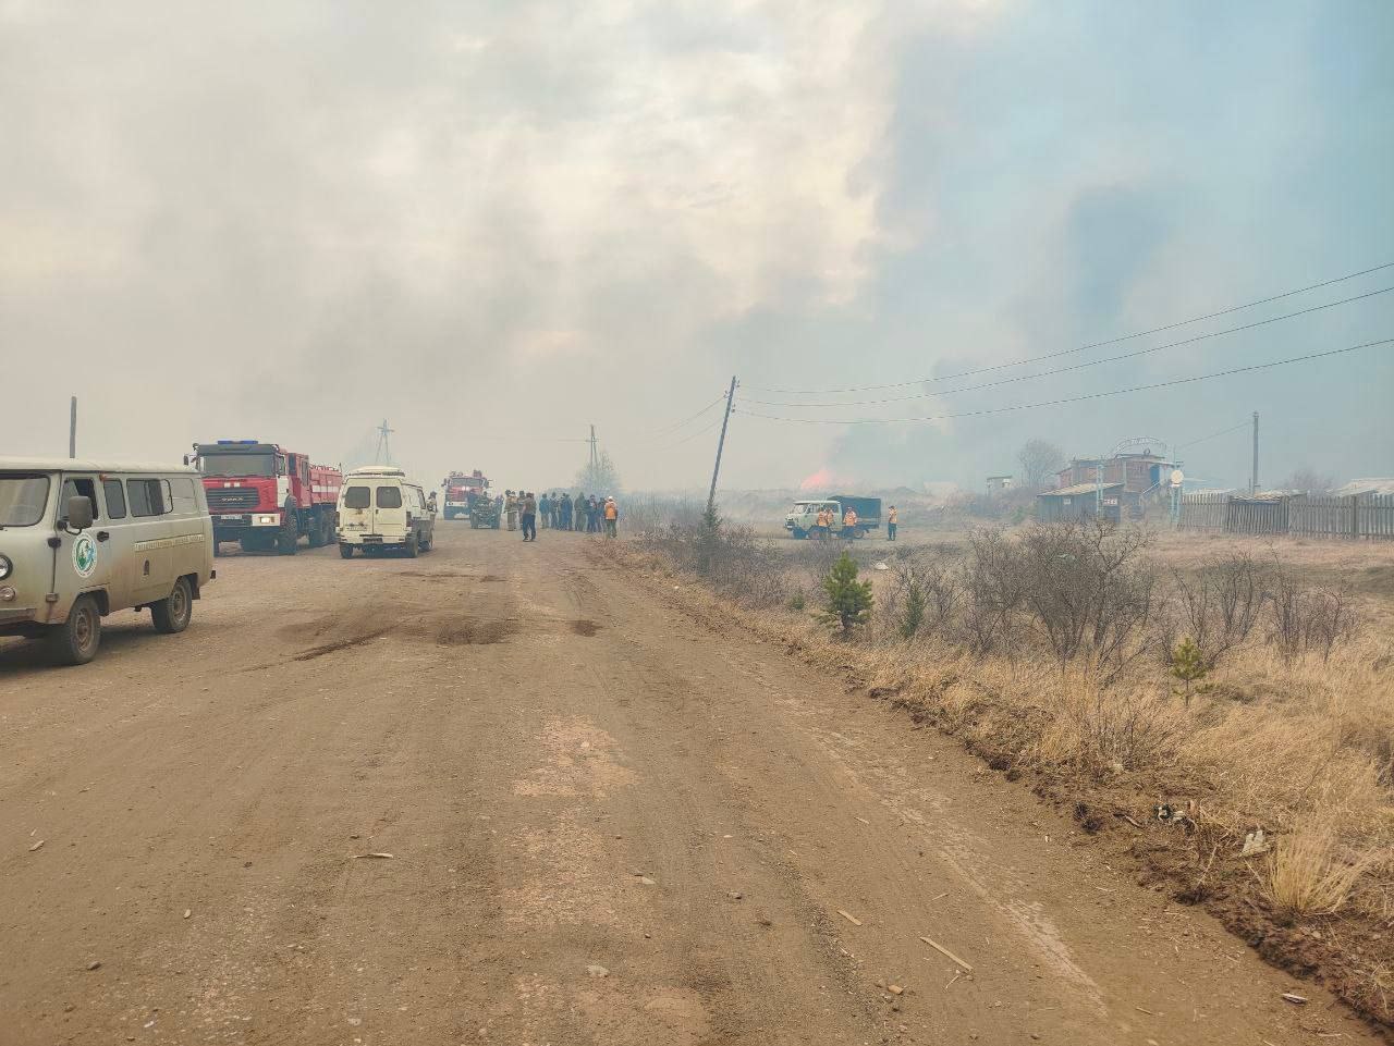
M701 487L718 407L942 416L1394 337L1394 292L952 375L1394 262L1394 4L0 0L0 453L256 437L541 489L594 423ZM1394 287L1394 269L977 382ZM974 382L966 382L974 383ZM956 481L1263 415L1394 475L1394 345L914 425L737 412L723 486ZM846 407L771 407L846 403ZM1248 476L1248 433L1181 451Z

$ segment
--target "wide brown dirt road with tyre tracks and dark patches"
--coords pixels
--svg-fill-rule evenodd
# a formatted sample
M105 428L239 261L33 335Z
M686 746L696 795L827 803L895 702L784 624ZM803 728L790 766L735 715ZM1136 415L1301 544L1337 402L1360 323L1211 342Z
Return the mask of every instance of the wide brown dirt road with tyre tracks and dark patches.
M0 1043L1373 1042L671 584L438 533L0 643Z

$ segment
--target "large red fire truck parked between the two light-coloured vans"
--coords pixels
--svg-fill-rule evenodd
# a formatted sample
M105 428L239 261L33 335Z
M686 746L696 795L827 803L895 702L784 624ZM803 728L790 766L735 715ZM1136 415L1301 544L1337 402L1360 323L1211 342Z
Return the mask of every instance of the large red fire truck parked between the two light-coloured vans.
M204 474L215 556L219 542L282 556L296 554L300 535L311 549L333 545L339 468L311 465L304 454L259 440L195 443L194 464Z

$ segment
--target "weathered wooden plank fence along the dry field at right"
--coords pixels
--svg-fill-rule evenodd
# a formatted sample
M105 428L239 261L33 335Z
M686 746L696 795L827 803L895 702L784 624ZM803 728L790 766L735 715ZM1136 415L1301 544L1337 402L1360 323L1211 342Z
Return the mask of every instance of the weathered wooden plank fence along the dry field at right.
M1394 494L1274 499L1182 494L1178 526L1217 533L1394 539Z

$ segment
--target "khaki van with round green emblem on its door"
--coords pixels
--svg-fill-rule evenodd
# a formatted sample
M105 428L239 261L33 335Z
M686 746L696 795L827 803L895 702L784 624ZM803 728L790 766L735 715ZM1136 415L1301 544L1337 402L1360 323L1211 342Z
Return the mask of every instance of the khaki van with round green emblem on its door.
M191 468L0 458L0 635L85 664L117 610L183 632L215 577L212 538Z

